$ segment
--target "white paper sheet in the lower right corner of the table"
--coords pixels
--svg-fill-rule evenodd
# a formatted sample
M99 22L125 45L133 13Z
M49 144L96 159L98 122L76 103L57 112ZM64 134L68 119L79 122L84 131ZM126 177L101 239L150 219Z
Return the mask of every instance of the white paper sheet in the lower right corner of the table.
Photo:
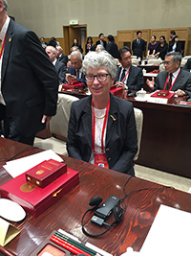
M191 213L160 205L140 255L190 256L190 233Z

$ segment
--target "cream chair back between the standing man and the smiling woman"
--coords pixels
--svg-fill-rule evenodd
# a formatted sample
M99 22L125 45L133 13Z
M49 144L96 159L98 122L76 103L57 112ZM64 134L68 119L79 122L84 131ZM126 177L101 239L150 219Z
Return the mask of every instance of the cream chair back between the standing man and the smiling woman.
M71 105L77 100L79 99L72 95L58 93L57 111L50 122L53 134L67 138Z

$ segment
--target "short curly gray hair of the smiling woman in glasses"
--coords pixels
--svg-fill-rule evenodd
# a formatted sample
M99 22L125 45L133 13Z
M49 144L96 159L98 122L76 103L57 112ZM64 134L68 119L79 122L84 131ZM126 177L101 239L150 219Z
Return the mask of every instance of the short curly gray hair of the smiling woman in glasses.
M117 61L108 52L89 52L83 60L83 72L87 74L89 69L104 67L114 79L117 75Z

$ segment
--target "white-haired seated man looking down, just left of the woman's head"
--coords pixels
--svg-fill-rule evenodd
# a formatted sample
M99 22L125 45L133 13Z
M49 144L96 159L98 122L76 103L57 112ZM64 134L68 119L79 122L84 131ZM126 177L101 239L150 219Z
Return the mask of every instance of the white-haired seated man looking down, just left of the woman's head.
M74 51L70 57L72 65L69 66L65 80L67 82L79 81L86 85L85 75L82 72L82 54Z

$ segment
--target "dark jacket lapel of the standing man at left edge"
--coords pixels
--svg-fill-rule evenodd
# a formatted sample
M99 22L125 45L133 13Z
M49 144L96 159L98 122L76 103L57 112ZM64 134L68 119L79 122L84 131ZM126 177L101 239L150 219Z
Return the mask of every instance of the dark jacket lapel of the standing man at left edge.
M13 34L13 24L14 24L14 22L11 20L9 28L8 28L7 36L6 36L6 43L5 43L5 48L4 48L4 53L3 53L3 61L2 61L2 73L1 73L1 83L2 84L3 84L5 73L6 73L6 70L8 67L8 61L10 58L12 34Z

